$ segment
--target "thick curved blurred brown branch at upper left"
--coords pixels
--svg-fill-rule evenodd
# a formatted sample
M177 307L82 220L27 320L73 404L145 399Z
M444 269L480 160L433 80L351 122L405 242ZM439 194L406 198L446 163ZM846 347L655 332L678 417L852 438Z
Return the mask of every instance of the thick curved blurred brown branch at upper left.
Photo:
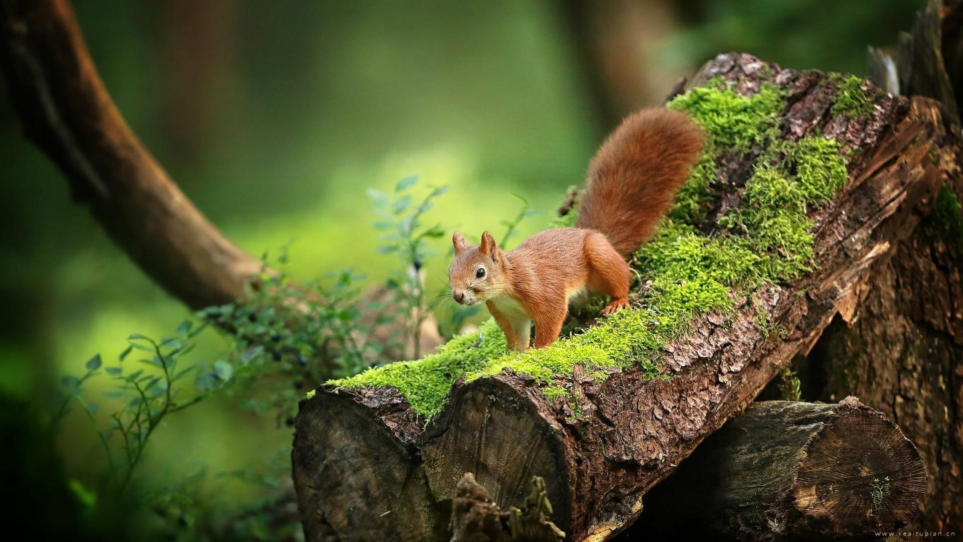
M65 0L0 0L0 65L27 137L144 272L193 309L245 293L261 262L225 238L143 148Z

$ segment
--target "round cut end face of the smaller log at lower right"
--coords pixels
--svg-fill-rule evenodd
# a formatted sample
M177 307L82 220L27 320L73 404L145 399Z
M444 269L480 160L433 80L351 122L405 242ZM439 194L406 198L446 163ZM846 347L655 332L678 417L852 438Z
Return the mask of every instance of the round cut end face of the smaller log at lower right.
M899 528L917 511L926 474L916 447L868 408L846 408L805 447L793 490L807 523L838 535Z

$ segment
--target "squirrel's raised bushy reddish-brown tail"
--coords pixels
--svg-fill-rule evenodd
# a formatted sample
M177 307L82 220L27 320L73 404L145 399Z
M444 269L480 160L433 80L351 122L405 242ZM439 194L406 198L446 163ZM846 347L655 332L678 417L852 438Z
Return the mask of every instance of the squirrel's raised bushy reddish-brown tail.
M588 166L576 226L601 231L622 256L655 232L699 160L705 133L684 113L643 109L612 132Z

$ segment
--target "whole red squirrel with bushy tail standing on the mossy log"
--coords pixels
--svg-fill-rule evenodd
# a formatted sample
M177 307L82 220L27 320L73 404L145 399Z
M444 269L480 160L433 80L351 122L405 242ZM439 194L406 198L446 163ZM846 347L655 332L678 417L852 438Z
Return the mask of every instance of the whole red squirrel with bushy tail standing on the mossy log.
M625 260L655 232L702 151L705 134L684 113L643 109L612 132L588 167L575 228L535 233L503 252L491 233L478 246L455 231L448 270L452 297L485 302L508 347L535 348L559 339L569 301L606 295L609 314L628 304Z

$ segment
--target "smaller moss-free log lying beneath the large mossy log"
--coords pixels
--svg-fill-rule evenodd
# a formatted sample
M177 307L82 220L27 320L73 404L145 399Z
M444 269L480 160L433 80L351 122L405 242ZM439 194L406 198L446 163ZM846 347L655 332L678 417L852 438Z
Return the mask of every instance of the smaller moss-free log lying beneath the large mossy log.
M645 496L626 538L872 537L904 527L925 491L916 447L855 397L756 402Z

